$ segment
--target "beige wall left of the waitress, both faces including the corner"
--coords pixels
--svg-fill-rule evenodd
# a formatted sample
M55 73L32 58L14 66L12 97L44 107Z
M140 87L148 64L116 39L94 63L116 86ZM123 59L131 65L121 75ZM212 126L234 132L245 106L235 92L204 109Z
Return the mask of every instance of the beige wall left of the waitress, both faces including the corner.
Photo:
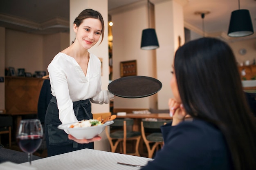
M25 68L32 74L46 71L53 57L69 46L68 33L36 35L6 29L5 67ZM17 41L19 40L19 41Z

